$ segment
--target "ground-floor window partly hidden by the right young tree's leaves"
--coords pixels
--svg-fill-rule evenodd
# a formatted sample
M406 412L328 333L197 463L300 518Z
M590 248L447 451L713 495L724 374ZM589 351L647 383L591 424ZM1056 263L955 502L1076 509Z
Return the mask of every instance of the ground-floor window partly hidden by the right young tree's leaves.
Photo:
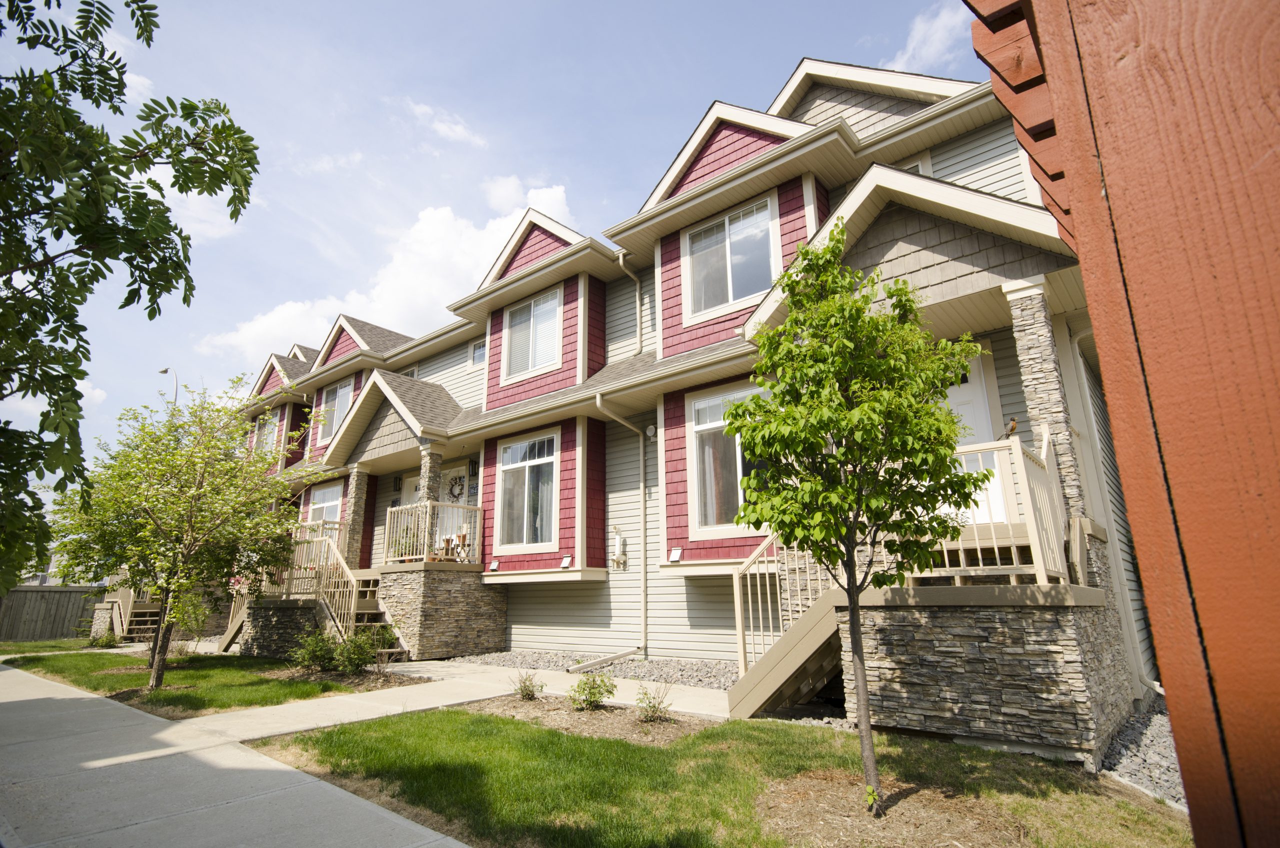
M694 494L698 528L731 528L742 503L741 479L751 473L742 443L724 432L724 410L760 389L749 388L692 402Z

